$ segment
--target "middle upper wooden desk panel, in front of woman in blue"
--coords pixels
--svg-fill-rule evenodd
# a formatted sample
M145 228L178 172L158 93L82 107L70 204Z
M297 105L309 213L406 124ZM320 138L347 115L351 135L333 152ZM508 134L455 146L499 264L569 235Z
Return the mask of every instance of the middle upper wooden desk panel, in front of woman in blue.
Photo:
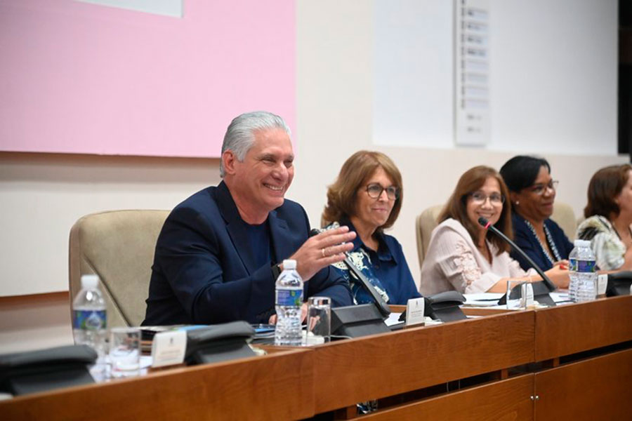
M534 312L315 347L316 413L533 361Z

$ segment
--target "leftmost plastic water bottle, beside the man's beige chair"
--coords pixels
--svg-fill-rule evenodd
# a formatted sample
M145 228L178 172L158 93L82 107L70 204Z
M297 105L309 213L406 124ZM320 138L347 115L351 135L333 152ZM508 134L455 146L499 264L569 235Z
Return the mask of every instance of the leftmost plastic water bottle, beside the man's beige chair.
M72 302L72 315L74 343L92 347L102 359L105 356L107 310L98 276L81 276L81 290Z

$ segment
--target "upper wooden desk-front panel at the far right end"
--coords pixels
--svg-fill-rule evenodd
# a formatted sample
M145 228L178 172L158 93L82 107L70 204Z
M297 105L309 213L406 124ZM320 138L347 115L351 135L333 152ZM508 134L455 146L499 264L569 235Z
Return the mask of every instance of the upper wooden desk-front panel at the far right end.
M536 361L632 340L632 296L535 310Z

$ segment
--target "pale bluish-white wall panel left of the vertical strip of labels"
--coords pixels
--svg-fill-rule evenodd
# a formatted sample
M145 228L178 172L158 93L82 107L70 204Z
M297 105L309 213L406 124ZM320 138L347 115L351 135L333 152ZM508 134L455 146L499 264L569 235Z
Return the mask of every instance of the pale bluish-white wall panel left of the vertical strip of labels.
M373 140L454 145L454 2L375 0Z

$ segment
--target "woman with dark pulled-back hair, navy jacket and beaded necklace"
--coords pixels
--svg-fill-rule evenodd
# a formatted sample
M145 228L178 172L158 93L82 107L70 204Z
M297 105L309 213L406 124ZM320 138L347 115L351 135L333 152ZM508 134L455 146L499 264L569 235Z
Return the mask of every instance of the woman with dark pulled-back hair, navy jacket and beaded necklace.
M573 244L551 220L557 180L551 178L548 161L535 156L514 156L500 171L509 189L514 241L542 270L555 265L568 267ZM522 269L531 265L515 250L511 257Z

